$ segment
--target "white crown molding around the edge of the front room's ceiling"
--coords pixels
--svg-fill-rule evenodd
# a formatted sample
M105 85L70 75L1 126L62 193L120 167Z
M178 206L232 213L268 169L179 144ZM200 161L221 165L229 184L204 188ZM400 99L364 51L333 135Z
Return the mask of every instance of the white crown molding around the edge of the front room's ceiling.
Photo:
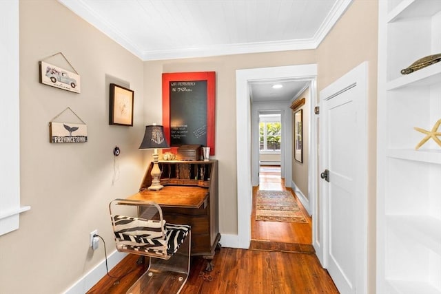
M313 50L320 45L331 28L349 7L352 0L337 0L333 8L323 21L316 34L310 39L281 40L255 43L217 44L199 48L177 48L161 50L143 50L139 45L128 39L123 32L109 23L101 15L96 14L86 1L83 0L58 0L72 12L78 14L95 28L119 43L123 48L132 52L143 61L163 59L185 59L193 57L221 56L228 54L245 54L258 52L278 52L291 50Z

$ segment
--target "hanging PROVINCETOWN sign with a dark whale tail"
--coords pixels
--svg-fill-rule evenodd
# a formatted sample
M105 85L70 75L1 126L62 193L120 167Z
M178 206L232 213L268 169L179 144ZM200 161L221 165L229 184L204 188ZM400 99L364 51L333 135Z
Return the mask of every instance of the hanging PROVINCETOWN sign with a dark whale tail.
M73 115L72 115L73 114ZM64 116L62 122L57 122L58 118L61 120L61 116ZM70 116L70 117L68 117ZM73 119L78 120L77 123L73 123ZM70 123L66 123L66 121ZM85 143L88 142L88 126L81 120L70 107L64 109L57 116L52 118L49 123L49 142L50 143Z

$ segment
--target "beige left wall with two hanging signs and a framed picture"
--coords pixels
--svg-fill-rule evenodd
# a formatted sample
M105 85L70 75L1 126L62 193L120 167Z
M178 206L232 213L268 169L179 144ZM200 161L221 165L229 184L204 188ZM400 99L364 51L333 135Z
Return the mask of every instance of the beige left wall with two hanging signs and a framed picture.
M21 204L31 210L0 236L0 293L61 293L104 258L102 243L89 249L90 231L114 251L107 204L142 180L143 62L57 1L20 1L19 14ZM81 94L39 83L39 61L57 52L81 75ZM106 75L134 90L134 127L108 125ZM48 123L66 107L87 124L88 143L49 143Z

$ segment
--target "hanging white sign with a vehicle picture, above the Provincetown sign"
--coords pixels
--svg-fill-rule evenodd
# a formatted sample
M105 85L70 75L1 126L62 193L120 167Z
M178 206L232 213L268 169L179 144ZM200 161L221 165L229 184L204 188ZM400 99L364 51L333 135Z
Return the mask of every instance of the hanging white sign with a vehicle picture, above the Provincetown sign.
M70 92L80 93L80 76L78 72L76 72L72 64L70 64L68 59L66 59L64 54L58 52L47 57L46 59L50 59L57 55L63 56L63 59L70 65L70 67L72 67L72 70L74 70L74 72L69 72L68 70L65 70L61 67L52 65L42 60L39 61L40 83L44 85L50 85L52 87L57 87L59 89L68 90Z

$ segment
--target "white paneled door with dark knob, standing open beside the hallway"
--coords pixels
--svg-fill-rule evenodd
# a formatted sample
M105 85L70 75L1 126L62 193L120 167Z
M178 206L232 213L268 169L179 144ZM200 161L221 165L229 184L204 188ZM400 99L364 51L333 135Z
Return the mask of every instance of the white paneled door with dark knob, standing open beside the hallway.
M367 280L366 63L320 92L324 264L342 294Z

